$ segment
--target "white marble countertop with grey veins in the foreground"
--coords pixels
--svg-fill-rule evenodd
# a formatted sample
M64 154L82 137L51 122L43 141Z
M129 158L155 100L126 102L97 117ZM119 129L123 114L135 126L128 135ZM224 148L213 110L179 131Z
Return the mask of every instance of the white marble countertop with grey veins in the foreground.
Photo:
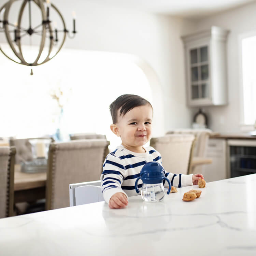
M0 255L256 255L256 174L192 187L163 202L129 198L0 219Z

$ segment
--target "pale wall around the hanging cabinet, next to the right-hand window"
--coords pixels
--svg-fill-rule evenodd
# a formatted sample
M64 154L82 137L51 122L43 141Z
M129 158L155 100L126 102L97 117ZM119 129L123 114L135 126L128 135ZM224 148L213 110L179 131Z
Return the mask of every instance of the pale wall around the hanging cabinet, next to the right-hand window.
M256 3L229 10L218 15L200 19L196 30L209 29L212 25L229 29L227 40L228 102L227 106L204 107L209 117L210 128L219 132L241 131L241 99L239 77L238 36L256 30ZM197 112L194 109L193 112Z

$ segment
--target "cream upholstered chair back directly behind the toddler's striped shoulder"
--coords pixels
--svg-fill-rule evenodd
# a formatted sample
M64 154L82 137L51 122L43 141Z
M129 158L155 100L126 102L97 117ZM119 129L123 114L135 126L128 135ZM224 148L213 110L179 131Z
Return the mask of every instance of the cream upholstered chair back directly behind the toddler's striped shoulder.
M193 154L193 134L167 134L150 140L162 157L162 166L167 172L188 174Z

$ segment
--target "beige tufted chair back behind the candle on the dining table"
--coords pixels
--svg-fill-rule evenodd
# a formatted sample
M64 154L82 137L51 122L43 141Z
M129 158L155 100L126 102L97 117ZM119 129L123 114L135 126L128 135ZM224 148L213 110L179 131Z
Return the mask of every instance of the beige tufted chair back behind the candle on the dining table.
M26 138L26 139L10 139L10 145L16 147L15 163L32 161L32 150L29 140L31 139L49 139L49 137ZM50 138L54 141L52 138Z

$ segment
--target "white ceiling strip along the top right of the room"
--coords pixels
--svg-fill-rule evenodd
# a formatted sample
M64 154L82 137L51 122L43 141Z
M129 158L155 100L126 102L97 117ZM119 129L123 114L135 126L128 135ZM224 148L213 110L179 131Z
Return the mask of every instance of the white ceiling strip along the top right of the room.
M199 18L236 8L255 0L91 0L116 7Z

